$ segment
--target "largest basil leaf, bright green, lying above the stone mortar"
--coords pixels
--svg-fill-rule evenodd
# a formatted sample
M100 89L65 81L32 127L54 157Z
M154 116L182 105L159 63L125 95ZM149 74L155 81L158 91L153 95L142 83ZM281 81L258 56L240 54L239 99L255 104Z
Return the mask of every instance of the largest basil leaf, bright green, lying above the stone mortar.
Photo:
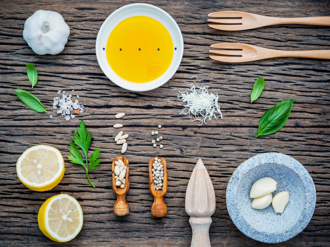
M269 135L281 129L288 120L293 106L293 99L284 100L277 103L274 107L267 110L259 121L259 135Z

